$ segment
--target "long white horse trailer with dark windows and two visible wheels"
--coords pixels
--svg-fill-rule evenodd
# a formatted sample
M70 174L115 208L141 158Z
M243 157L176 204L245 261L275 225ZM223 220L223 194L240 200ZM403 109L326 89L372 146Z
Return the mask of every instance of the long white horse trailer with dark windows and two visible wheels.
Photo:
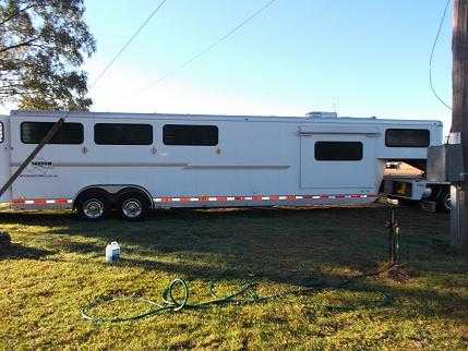
M16 209L88 219L152 208L324 206L375 201L389 160L422 165L432 120L12 111L0 117L0 185L64 123L1 196Z

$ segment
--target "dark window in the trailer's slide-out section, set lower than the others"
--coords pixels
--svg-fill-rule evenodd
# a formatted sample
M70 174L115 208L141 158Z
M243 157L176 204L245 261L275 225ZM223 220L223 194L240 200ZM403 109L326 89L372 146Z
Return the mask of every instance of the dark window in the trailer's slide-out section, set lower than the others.
M317 161L359 161L362 159L361 142L316 142Z

